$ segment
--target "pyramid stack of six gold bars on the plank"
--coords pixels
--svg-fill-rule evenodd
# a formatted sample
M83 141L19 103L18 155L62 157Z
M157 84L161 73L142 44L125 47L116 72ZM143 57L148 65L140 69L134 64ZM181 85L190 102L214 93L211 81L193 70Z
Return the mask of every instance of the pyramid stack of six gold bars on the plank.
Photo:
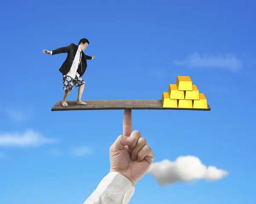
M207 100L199 93L189 76L177 76L176 84L170 84L168 92L163 92L163 108L207 109Z

